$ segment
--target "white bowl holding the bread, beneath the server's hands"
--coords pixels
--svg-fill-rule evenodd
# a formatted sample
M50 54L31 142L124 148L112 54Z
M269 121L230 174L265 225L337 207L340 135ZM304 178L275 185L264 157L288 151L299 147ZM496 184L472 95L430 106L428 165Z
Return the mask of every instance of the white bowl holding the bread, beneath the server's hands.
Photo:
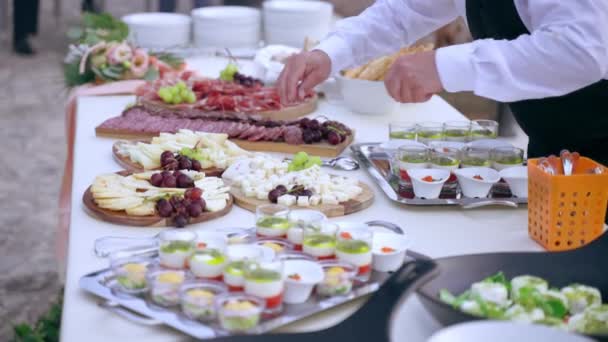
M394 112L399 103L388 94L384 82L336 76L344 104L353 112L384 115Z

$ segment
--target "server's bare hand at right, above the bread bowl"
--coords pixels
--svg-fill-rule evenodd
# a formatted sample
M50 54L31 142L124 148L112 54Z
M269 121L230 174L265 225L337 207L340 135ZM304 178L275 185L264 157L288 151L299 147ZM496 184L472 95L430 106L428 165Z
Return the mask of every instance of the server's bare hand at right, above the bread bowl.
M398 102L426 102L443 90L435 64L435 51L397 58L389 69L384 85Z

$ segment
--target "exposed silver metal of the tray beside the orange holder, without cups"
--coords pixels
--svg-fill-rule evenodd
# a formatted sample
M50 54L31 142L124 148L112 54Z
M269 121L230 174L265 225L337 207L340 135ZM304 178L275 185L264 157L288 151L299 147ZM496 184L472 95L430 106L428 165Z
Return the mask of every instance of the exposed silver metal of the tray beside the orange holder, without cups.
M517 208L519 204L528 203L527 198L496 196L494 195L496 193L494 189L487 198L467 198L462 196L460 188L458 187L455 189L453 198L423 199L403 197L399 194L399 177L392 172L390 167L391 157L384 149L380 148L379 145L380 143L360 143L351 145L350 149L354 157L361 164L361 167L367 170L386 196L397 203L418 206L459 205L464 209L490 205ZM503 189L508 189L506 183L502 183L500 186L502 186Z

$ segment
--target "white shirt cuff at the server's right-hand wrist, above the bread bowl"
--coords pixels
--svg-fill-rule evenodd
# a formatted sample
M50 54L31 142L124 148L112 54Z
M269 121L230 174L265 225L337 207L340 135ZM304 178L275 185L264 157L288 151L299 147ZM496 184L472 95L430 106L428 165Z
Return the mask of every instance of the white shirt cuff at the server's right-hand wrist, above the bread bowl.
M451 93L475 90L477 75L473 64L474 50L472 43L437 50L435 63L443 89Z

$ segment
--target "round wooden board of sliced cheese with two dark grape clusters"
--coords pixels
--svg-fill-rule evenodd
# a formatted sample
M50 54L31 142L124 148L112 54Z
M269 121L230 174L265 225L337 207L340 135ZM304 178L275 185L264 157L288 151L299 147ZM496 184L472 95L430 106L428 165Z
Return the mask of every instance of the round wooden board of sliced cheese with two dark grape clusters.
M183 227L226 215L234 200L220 178L181 170L99 175L82 201L88 213L106 222Z

